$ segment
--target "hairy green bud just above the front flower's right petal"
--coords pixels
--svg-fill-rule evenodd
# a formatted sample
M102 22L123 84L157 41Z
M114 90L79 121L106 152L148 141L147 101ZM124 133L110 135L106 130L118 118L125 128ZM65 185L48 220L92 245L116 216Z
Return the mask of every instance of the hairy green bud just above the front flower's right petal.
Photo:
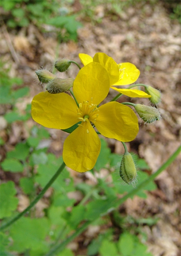
M136 104L135 110L145 123L153 123L161 119L161 114L156 107L145 106L144 104Z

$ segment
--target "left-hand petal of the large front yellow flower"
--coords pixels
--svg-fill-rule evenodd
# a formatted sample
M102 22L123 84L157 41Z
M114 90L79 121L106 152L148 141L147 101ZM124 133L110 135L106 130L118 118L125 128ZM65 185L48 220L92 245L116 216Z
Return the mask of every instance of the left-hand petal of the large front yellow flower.
M37 123L55 129L66 129L77 123L77 105L68 94L37 94L31 104L31 115Z

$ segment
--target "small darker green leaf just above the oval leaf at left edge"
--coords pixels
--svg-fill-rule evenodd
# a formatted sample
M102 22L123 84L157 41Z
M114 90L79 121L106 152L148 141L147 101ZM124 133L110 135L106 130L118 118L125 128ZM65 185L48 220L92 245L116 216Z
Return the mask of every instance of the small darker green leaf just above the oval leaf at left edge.
M29 146L25 143L18 143L15 149L7 153L7 158L16 158L25 161L29 154Z

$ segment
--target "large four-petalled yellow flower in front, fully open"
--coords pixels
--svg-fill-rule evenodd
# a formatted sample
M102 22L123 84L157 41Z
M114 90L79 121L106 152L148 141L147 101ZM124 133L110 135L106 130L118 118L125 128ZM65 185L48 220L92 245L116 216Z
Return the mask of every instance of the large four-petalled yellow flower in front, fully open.
M67 129L81 121L64 142L63 159L71 169L86 172L94 167L101 147L92 124L105 137L132 141L138 133L138 118L130 107L118 102L97 107L110 89L109 75L99 63L83 67L73 89L79 107L66 93L41 92L33 98L32 118L56 129Z

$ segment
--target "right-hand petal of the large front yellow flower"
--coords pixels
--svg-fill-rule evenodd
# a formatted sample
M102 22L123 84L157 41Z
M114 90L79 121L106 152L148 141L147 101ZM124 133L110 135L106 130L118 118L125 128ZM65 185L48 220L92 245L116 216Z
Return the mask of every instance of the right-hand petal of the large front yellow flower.
M137 116L130 107L118 102L100 106L94 125L103 136L118 141L132 141L138 133Z

